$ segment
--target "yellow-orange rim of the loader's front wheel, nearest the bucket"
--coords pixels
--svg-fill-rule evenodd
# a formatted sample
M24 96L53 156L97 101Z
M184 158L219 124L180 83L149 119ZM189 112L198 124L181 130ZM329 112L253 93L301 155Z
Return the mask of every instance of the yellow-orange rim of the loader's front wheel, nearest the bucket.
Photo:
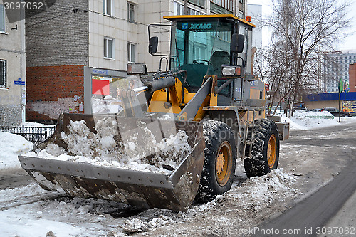
M220 144L216 155L216 180L220 186L224 186L230 179L232 169L232 149L229 142Z

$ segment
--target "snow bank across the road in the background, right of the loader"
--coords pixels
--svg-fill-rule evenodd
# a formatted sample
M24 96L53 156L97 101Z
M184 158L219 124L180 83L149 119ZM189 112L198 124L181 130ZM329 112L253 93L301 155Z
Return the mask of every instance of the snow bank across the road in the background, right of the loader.
M310 130L318 127L337 126L338 119L330 112L294 112L294 116L282 117L282 121L289 122L290 130Z

